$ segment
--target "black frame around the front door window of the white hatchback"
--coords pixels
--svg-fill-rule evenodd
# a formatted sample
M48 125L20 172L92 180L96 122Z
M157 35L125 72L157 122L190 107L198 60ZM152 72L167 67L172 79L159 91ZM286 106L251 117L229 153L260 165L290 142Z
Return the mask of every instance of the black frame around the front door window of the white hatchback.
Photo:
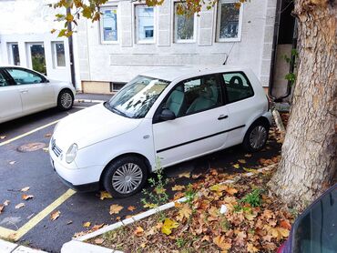
M168 97L176 89L177 86L181 86L184 83L189 82L189 81L193 81L193 80L196 80L196 79L201 79L202 77L214 76L217 79L217 81L219 82L219 86L220 86L220 95L219 95L220 105L219 106L212 106L212 107L209 107L207 109L200 110L198 112L194 112L194 113L190 113L190 114L186 114L186 115L183 115L183 116L176 116L176 119L180 118L180 117L184 117L184 116L196 115L196 114L208 111L208 110L212 110L212 109L215 109L215 108L218 108L218 107L221 107L221 106L225 106L226 105L226 103L225 103L226 100L224 99L225 96L224 96L224 90L222 88L222 80L221 80L221 78L220 78L219 75L220 75L220 73L210 73L210 74L204 74L204 75L200 75L200 76L189 77L187 79L179 81L176 85L174 85L169 90L168 94L161 100L160 104L158 105L158 107L156 109L155 114L153 115L152 124L156 124L156 123L160 123L160 122L164 122L165 121L165 120L160 119L159 115L160 115L161 111L163 110L163 106L166 103L166 101L168 100Z

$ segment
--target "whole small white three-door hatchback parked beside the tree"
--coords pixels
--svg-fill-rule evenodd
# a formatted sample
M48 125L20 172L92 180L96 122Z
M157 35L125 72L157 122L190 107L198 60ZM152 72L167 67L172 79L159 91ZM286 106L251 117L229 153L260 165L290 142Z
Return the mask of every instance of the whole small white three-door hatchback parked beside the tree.
M258 151L270 125L268 98L250 69L160 69L62 119L50 157L68 186L128 197L156 161L168 167L238 144Z

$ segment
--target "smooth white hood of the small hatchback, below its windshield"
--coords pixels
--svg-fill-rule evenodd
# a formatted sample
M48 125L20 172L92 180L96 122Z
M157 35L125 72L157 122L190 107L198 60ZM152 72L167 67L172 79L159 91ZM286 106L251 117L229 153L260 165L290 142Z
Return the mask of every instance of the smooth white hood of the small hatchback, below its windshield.
M64 151L73 143L81 149L127 133L135 129L140 122L141 119L119 116L103 104L99 104L63 118L58 123L53 137L56 145Z

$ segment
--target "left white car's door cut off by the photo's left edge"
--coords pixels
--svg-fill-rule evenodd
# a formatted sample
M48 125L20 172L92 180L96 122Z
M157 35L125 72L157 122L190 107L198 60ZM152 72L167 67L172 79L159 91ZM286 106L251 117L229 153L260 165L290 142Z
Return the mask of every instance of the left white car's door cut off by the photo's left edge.
M21 116L22 103L17 86L0 68L0 123Z

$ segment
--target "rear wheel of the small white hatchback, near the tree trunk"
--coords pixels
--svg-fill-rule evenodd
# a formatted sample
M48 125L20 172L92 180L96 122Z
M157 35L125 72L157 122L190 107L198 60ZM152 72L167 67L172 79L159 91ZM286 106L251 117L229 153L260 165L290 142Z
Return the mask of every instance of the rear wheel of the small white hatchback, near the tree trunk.
M254 122L243 139L242 146L249 152L260 151L268 140L270 126L263 121Z

